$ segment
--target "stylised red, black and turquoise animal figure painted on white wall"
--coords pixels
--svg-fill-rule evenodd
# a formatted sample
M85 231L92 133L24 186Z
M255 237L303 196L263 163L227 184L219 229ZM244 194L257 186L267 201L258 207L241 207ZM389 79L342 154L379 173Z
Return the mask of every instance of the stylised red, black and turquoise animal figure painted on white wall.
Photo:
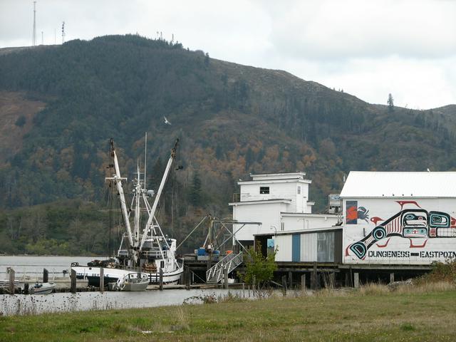
M347 201L347 211L348 202L356 201ZM383 220L380 217L372 217L371 222L375 224L375 228L371 233L366 235L366 237L348 246L346 248L346 256L348 256L349 251L351 251L359 259L364 259L368 249L370 249L373 244L377 244L378 247L386 247L390 239L388 239L385 244L378 244L378 242L387 237L403 237L410 239L410 248L425 247L427 239L429 238L456 237L456 219L449 214L445 212L427 212L427 210L421 208L415 201L396 202L400 205L400 212L386 220ZM403 209L405 204L413 204L418 207L418 209ZM363 208L361 212L366 213L363 219L367 222L368 210L364 207L355 210L357 214L356 218L361 218L359 216L359 209L361 208ZM353 212L354 209L351 210ZM412 239L415 238L423 238L425 241L422 244L413 244Z

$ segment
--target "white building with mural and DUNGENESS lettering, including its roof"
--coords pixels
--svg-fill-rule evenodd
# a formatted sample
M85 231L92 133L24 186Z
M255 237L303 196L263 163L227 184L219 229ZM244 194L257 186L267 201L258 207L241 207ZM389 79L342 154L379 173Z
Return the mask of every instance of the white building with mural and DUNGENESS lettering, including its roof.
M358 172L343 201L344 264L456 257L456 172Z

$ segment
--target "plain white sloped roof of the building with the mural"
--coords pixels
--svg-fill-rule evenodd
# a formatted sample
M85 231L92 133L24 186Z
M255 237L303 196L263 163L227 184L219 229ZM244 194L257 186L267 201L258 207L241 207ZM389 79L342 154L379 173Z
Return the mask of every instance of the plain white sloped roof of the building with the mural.
M351 171L341 197L456 197L456 172Z

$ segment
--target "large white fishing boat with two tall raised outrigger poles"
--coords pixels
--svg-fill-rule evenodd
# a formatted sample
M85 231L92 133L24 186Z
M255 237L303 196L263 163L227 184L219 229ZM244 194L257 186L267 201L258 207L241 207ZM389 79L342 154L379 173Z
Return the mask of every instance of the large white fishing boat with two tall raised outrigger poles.
M141 174L139 162L137 163L136 177L133 180L133 199L130 207L127 208L127 200L123 190L123 183L127 179L120 175L118 157L114 142L111 139L110 157L113 162L110 164L110 169L113 170L113 175L107 177L106 180L111 189L116 190L118 194L125 232L122 235L120 248L115 258L108 261L98 261L98 263L93 261L88 266L80 266L77 263L71 264L71 268L76 271L76 278L88 279L89 286L100 286L100 269L103 269L105 285L117 282L118 279L124 279L125 276L132 273L140 274L140 279L147 277L150 284L158 284L160 274L163 284L178 283L183 273L183 265L175 257L176 240L163 233L155 217L157 204L175 160L178 144L179 140L177 139L171 150L157 194L153 190L146 189L145 166L144 172ZM146 165L146 160L144 165ZM178 166L177 170L181 168ZM149 200L153 197L155 198L151 205Z

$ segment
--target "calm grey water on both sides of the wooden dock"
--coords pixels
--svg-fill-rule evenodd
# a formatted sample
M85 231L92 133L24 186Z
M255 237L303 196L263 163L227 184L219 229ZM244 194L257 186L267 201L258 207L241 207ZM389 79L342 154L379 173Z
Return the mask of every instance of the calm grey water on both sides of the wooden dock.
M11 266L18 276L41 276L43 268L48 269L49 277L52 273L62 276L63 269L70 269L71 262L87 264L93 257L0 257L0 279L6 279L6 267ZM238 296L249 296L249 291L229 290ZM78 292L77 294L58 293L47 295L15 294L0 295L0 314L24 315L43 314L47 312L85 311L103 309L145 308L154 306L180 305L184 301L199 302L192 297L225 296L224 289L192 289L144 291L144 292Z

